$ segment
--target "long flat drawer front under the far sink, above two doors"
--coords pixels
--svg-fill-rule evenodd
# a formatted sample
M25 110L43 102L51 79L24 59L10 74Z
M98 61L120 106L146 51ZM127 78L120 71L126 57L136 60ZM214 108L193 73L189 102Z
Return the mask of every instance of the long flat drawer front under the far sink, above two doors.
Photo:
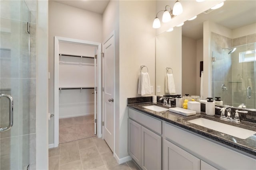
M162 134L162 121L152 118L150 116L144 115L139 111L129 108L128 115L131 119L137 121L141 125L148 127L152 131L158 134Z

